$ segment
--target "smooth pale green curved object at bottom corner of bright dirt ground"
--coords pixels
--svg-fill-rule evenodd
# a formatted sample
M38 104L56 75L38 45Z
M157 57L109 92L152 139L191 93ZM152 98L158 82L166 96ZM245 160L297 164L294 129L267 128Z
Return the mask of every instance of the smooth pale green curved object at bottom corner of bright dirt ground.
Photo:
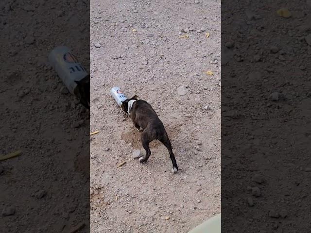
M221 220L222 220L221 214L216 215L214 217L209 218L204 223L192 229L188 233L221 233L222 232Z

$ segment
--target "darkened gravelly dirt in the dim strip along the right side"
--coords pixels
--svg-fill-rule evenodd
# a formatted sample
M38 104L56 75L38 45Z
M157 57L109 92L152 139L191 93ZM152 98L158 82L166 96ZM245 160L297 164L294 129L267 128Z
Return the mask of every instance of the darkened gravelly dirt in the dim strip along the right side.
M222 4L223 232L310 232L310 10Z

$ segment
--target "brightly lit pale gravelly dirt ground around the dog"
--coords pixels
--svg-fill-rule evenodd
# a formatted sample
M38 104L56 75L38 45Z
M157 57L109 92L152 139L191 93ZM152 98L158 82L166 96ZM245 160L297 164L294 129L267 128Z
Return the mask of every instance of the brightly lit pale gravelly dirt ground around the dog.
M220 10L219 0L91 0L90 130L100 131L90 142L92 233L186 233L221 212ZM146 164L132 158L139 132L113 86L150 101L178 173L158 142Z

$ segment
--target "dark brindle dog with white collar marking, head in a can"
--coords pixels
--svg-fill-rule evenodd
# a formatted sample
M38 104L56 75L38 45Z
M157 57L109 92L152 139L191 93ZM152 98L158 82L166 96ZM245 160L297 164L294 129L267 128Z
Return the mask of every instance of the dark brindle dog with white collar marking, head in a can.
M155 110L145 100L138 100L138 96L122 101L121 107L123 111L130 115L134 126L141 132L140 140L146 154L139 158L140 163L145 163L151 151L149 143L153 140L159 140L169 150L170 158L173 163L171 172L174 174L178 171L175 155L173 154L171 141L165 131L164 125Z

